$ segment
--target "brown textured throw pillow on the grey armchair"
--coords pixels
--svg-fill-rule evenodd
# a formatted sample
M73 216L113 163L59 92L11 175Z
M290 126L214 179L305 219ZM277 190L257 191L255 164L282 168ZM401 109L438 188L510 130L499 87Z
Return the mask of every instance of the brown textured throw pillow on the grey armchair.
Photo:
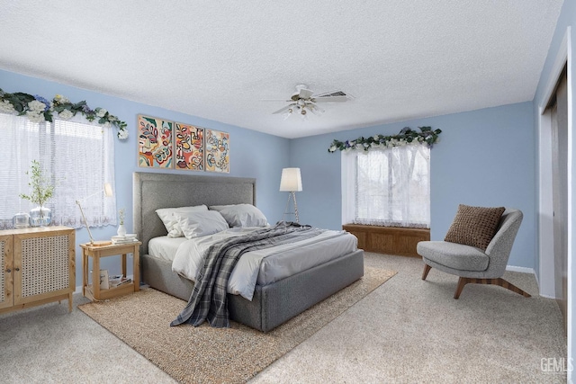
M496 235L500 218L506 208L485 208L458 205L456 217L444 241L475 246L485 251Z

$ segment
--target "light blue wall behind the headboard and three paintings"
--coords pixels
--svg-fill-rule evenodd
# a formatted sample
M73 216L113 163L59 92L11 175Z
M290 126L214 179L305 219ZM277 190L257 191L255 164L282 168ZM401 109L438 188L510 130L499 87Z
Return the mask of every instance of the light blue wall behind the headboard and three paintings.
M184 171L148 170L139 168L137 163L136 119L138 114L147 114L166 120L195 124L204 128L219 129L230 134L230 176L254 177L257 179L257 206L264 212L266 218L275 223L282 219L285 196L278 192L282 168L289 165L289 139L266 135L254 130L243 129L218 121L209 121L184 113L168 111L154 106L134 103L125 99L106 94L86 91L83 89L61 85L41 80L39 78L22 76L0 70L0 88L5 92L24 92L40 94L51 100L56 94L63 94L72 102L85 100L91 108L102 107L128 123L130 137L127 140L114 141L116 203L118 209L126 209L126 227L132 229L132 173L133 172L163 172L182 174ZM192 172L219 177L220 174L209 172ZM79 196L81 197L81 196ZM16 213L14 211L14 213ZM109 239L116 234L116 228L107 226L91 228L94 239ZM76 244L89 240L85 229L76 230ZM81 248L76 246L76 286L82 284ZM117 267L112 260L105 260L103 267L111 272ZM113 271L114 273L120 272ZM130 271L129 271L130 273Z

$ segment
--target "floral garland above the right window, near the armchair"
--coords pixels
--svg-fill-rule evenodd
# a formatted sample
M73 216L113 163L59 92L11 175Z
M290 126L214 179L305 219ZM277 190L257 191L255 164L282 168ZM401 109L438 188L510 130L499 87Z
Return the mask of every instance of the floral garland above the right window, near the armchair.
M438 141L438 135L442 132L440 129L432 130L431 127L419 127L420 132L405 127L401 129L398 135L384 136L375 135L370 138L356 138L356 140L346 141L332 141L332 145L328 148L329 153L334 153L338 149L341 151L350 150L364 150L367 151L372 148L392 148L406 146L410 144L426 143L428 147L432 147Z

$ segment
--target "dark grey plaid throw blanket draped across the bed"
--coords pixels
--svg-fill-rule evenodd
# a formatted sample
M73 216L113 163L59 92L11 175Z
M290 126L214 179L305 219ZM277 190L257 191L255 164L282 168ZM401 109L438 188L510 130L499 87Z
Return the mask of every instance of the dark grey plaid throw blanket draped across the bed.
M229 327L226 290L230 273L241 255L258 249L280 246L320 235L322 229L280 222L247 236L230 237L211 246L194 282L188 304L170 326L183 323L200 326L208 320L214 327Z

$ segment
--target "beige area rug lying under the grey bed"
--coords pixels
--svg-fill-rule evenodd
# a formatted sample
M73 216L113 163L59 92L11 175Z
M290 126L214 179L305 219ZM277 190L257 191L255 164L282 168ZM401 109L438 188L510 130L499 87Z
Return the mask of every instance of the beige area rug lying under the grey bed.
M185 383L241 383L329 324L396 272L365 268L364 277L264 334L232 322L230 328L170 326L185 301L157 290L79 309L137 352Z

